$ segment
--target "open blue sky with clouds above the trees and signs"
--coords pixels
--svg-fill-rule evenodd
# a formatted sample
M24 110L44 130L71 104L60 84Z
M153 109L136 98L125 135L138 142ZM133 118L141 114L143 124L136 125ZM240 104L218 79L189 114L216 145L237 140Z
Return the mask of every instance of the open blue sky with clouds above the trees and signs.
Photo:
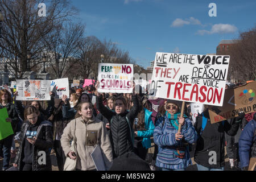
M85 36L116 43L146 68L156 52L216 53L256 24L255 0L72 0ZM216 3L217 16L208 7Z

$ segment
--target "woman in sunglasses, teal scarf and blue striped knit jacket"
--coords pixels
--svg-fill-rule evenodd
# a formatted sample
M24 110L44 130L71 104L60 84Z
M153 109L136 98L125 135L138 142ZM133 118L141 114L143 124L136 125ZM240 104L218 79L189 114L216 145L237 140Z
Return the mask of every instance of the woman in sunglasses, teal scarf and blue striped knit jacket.
M197 133L187 115L181 117L180 101L167 100L166 113L155 123L154 142L158 145L155 166L160 171L184 171L192 164L188 143L195 143ZM179 123L181 133L178 133Z

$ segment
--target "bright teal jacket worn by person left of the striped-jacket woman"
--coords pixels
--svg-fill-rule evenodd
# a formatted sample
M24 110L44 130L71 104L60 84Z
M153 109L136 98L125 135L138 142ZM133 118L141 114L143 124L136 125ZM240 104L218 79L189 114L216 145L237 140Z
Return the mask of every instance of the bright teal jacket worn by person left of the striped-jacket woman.
M151 147L151 139L150 137L153 136L154 133L154 123L152 122L152 118L151 118L151 114L152 112L150 112L149 110L144 108L144 118L145 118L145 129L146 131L138 131L138 137L143 137L142 140L142 146L144 148L150 148Z

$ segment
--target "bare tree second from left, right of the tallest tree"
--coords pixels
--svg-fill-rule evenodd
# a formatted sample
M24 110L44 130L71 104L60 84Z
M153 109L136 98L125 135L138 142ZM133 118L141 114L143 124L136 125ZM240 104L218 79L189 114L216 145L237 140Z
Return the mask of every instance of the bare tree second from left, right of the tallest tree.
M84 34L85 25L66 22L59 24L45 39L47 61L56 78L67 76L78 57L79 45Z

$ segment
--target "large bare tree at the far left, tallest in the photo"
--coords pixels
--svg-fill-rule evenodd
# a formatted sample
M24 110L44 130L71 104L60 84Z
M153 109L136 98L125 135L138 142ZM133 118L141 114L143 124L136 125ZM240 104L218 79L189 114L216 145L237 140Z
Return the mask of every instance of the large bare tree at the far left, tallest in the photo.
M46 3L47 16L38 15L38 4ZM44 49L43 39L57 24L76 11L68 0L1 0L3 20L0 49L16 78L27 71L27 54L38 60ZM35 61L31 68L42 62Z

